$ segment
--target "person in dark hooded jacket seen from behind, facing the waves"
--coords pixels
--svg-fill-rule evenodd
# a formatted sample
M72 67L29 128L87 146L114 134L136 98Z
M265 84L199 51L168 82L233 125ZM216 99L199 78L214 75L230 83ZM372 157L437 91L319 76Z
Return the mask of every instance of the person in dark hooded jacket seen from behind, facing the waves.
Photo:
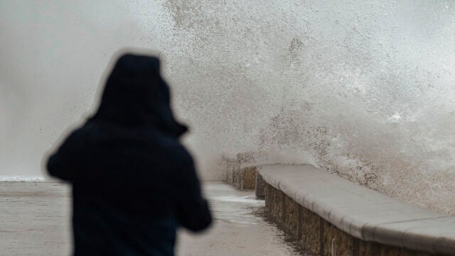
M210 225L159 60L122 55L97 113L50 159L73 185L74 255L173 255L176 228Z

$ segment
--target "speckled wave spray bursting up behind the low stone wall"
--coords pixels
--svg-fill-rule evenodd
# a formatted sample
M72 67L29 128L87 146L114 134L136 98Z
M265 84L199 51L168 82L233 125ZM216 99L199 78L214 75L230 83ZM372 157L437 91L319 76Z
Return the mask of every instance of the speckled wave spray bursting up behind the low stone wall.
M185 49L169 55L169 75L192 74L176 81L196 92L181 109L208 124L194 137L201 148L308 163L305 152L351 181L455 214L453 1L165 6Z

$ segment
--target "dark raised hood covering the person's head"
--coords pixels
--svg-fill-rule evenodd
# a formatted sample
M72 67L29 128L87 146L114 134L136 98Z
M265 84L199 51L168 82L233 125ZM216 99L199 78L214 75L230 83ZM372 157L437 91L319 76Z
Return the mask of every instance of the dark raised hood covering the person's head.
M174 137L187 130L173 116L159 59L146 55L124 54L117 60L107 78L100 107L90 120L149 127Z

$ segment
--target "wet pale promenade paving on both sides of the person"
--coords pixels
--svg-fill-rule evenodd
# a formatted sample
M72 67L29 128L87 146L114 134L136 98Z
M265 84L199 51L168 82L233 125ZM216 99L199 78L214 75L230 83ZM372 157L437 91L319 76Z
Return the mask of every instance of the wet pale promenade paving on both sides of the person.
M70 255L70 190L62 183L0 182L0 255ZM215 222L200 234L180 230L176 255L306 255L264 220L253 191L205 183Z

